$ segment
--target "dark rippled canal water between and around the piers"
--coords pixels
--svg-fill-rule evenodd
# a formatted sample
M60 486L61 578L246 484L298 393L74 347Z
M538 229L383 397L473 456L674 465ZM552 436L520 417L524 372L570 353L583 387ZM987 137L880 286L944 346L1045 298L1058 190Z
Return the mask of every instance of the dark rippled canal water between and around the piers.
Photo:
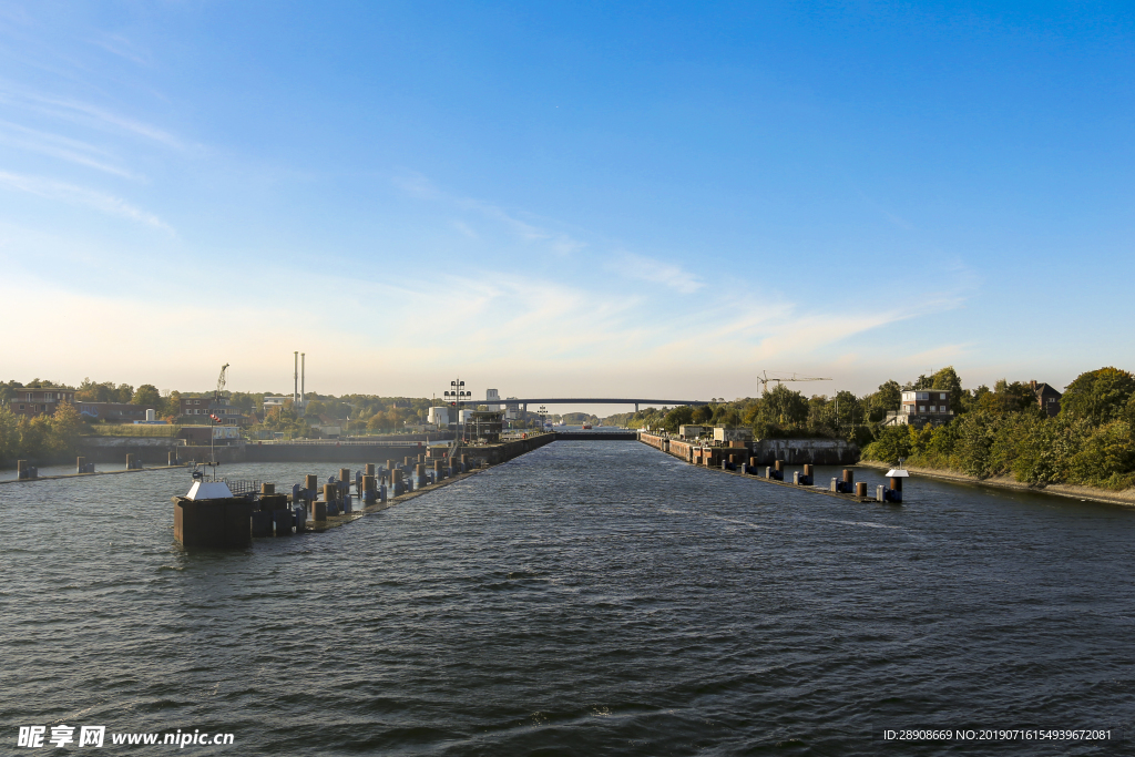
M109 754L178 730L232 733L184 750L218 755L1135 748L878 738L1130 730L1129 510L917 478L902 507L851 504L557 441L322 535L187 554L188 482L0 487L5 754L22 725L106 726Z

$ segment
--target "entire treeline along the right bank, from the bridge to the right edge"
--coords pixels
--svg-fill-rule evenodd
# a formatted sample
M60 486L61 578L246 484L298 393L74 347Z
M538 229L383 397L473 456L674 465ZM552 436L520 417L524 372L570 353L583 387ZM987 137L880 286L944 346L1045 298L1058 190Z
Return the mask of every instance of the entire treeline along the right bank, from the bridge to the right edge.
M950 395L952 419L941 426L883 426L899 410L905 389ZM1081 375L1065 390L1060 414L1044 412L1032 386L998 381L965 388L952 367L900 385L889 380L856 396L806 397L777 385L762 397L698 407L646 407L605 419L630 428L684 423L747 426L755 438L843 438L865 460L949 469L987 478L1012 474L1033 483L1079 483L1124 489L1135 483L1135 377L1117 368Z

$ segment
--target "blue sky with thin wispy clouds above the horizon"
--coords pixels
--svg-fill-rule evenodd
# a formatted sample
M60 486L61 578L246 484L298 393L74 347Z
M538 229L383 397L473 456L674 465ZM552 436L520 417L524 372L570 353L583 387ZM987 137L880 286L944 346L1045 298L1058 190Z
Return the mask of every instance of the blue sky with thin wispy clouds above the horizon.
M1133 42L1129 2L5 2L0 380L1135 369Z

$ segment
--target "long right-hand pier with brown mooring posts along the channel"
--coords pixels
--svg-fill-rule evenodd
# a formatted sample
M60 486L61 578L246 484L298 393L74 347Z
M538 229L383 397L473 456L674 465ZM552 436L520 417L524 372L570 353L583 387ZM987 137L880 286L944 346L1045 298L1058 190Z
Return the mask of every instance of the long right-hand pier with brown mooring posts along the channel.
M902 479L908 477L905 470L888 471L890 486L880 483L875 486L874 491L868 493L868 487L865 482L855 482L854 470L843 469L841 479L833 478L827 487L817 487L814 480L815 469L812 463L801 463L800 470L793 471L789 477L783 460L772 461L771 465L760 465L760 461L751 454L753 447L750 443L747 441L729 441L721 445L711 445L700 441L672 439L667 436L647 434L645 431L640 431L638 437L642 444L683 460L691 465L707 468L730 476L740 476L765 483L790 487L800 491L812 491L813 494L821 494L848 502L901 504ZM785 478L789 480L785 480Z

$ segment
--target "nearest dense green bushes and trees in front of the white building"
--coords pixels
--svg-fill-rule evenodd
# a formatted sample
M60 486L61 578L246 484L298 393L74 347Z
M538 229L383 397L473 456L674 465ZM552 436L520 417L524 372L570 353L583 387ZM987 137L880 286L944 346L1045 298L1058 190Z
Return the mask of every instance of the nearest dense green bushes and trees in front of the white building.
M903 457L909 465L978 478L1011 474L1032 485L1125 489L1135 483L1135 376L1128 371L1082 373L1065 389L1054 418L1019 381L967 395L961 414L944 426L881 430L864 459Z

